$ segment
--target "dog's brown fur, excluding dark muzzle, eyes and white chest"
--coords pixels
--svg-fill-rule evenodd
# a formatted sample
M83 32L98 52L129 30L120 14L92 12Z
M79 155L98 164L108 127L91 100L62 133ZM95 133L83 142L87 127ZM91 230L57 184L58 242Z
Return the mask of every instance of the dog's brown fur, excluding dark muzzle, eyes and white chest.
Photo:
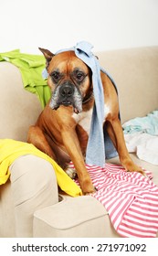
M83 98L81 114L86 115L94 103L93 97L90 96L92 92L90 69L75 56L73 51L62 52L54 56L46 49L40 48L40 50L47 59L47 72L49 74L47 83L52 92L57 86L51 78L53 70L58 69L63 75L58 86L67 81L76 86L76 80L72 77L73 70L78 68L84 71L86 77L80 82L79 91ZM120 156L121 165L128 171L138 171L143 174L142 168L132 162L124 142L121 122L118 117L119 103L117 93L111 80L102 72L100 76L105 105L110 109L105 123L111 140ZM60 105L57 110L53 110L50 108L49 103L50 101L38 117L37 123L30 127L27 141L35 144L39 150L52 157L63 168L66 168L71 160L79 176L79 184L83 194L94 192L95 189L84 163L84 155L89 138L88 133L77 122L77 119L75 120L72 117L74 109L71 105Z

